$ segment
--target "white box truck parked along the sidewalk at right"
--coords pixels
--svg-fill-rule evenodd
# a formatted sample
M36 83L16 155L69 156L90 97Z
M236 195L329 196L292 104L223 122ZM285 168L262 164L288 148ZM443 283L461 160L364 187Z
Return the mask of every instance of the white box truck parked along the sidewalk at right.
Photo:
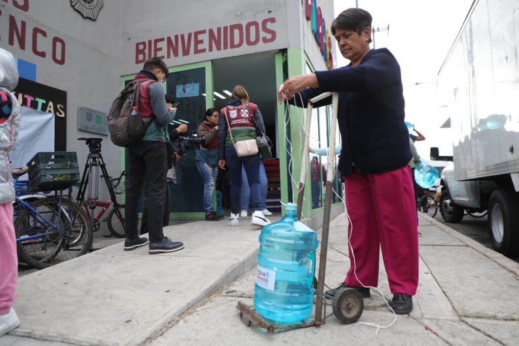
M438 73L453 160L442 172L440 212L458 223L488 211L496 251L519 254L519 0L475 0Z

